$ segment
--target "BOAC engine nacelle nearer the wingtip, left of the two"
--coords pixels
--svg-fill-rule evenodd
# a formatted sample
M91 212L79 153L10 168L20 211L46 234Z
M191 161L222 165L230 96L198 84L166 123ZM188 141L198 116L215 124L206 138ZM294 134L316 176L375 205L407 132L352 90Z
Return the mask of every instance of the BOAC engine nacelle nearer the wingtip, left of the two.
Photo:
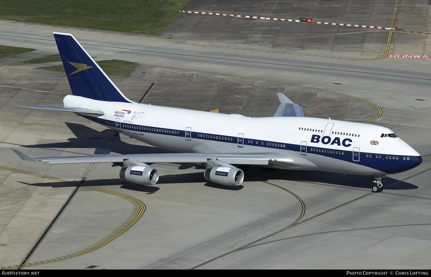
M152 166L129 166L120 170L120 178L140 185L153 185L159 180L159 171Z

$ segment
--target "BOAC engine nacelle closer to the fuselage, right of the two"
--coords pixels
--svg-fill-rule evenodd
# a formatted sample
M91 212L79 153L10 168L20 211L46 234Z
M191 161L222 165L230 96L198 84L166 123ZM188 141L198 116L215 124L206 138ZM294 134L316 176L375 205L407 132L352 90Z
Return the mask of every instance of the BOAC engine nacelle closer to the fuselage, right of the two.
M207 168L204 177L216 184L239 186L244 181L244 172L236 167L215 167Z

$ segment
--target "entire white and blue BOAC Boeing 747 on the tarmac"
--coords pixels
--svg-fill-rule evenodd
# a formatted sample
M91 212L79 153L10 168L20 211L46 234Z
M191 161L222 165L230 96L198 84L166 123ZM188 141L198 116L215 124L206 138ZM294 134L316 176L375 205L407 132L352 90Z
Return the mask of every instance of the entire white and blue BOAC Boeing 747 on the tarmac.
M74 112L129 137L179 153L31 158L50 164L109 162L119 177L136 184L156 184L159 172L149 164L200 165L206 180L239 186L240 165L294 170L322 170L375 175L373 192L383 189L386 174L414 168L422 157L388 128L347 121L306 118L299 105L278 93L273 117L253 118L135 103L109 79L72 34L54 33L73 95L63 107L20 106Z

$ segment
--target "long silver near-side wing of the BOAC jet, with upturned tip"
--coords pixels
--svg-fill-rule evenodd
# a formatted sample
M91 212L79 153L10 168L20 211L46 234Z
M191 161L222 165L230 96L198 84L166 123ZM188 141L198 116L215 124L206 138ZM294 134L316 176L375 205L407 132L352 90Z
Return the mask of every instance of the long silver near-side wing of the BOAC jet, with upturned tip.
M53 164L80 164L99 162L124 162L137 159L143 163L171 162L171 163L206 163L210 159L234 165L268 165L269 163L294 164L294 159L281 157L279 153L162 153L162 154L131 154L105 156L72 156L72 157L43 157L31 158L17 149L12 149L21 159L32 162L49 162Z

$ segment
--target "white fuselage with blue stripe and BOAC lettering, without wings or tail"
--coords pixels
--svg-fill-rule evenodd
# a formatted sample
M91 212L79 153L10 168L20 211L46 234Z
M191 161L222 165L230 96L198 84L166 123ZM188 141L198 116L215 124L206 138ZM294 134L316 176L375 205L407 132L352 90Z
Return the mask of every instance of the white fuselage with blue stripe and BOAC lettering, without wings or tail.
M278 153L294 165L273 168L377 175L405 171L422 158L388 128L322 118L253 118L66 96L68 107L102 111L83 115L153 146L183 153ZM383 137L381 137L383 134Z

